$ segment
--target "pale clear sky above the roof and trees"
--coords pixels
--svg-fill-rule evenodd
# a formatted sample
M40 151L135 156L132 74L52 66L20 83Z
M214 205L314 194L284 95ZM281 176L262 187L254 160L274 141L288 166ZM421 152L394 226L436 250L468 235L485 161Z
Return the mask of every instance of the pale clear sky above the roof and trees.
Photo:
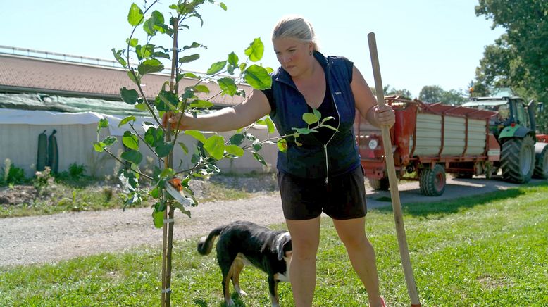
M175 1L163 0L155 9L168 16L168 6ZM131 34L127 12L133 2L143 4L138 0L0 0L0 45L113 60L111 49L127 46L125 39ZM227 11L204 4L203 27L195 21L189 23L189 30L180 32L179 46L192 42L207 46L194 49L201 58L183 69L205 72L232 51L241 60L257 37L265 45L259 63L278 68L270 42L273 26L282 16L297 14L312 23L323 54L349 58L370 86L375 82L367 35L375 32L382 83L408 89L418 97L425 85L466 90L485 46L504 32L499 27L492 30L492 20L475 15L478 0L223 2ZM171 44L161 37L151 43Z

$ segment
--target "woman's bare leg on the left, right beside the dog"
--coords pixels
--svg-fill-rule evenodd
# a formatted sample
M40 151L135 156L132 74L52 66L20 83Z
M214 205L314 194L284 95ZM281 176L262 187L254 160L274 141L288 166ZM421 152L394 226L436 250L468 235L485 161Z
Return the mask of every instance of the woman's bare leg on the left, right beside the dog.
M293 256L289 280L297 307L312 306L316 287L316 253L320 244L320 217L311 220L285 220L291 234Z

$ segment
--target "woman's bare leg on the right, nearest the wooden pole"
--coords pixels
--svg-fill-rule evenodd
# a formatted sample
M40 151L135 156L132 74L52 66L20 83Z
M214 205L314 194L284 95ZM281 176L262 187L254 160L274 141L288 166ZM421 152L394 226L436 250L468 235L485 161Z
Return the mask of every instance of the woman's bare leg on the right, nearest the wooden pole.
M337 234L347 248L352 267L366 287L369 305L382 306L379 294L379 277L375 251L366 237L366 218L333 220Z

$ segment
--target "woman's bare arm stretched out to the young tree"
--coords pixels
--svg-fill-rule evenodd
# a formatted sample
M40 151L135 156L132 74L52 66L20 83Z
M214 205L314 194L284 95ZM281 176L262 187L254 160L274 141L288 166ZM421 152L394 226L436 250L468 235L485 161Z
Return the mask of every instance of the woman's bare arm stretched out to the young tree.
M183 115L179 125L180 130L200 130L200 131L231 131L241 127L251 125L259 118L270 113L270 104L266 95L258 89L236 106L223 108L219 111L198 115L193 118L190 115ZM179 115L168 119L169 123L175 125L178 123Z

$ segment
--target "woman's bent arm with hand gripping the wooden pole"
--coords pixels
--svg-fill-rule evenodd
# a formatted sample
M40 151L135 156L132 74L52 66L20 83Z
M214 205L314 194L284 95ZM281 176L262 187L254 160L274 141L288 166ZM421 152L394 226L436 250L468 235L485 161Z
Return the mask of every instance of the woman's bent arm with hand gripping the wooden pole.
M379 107L377 100L373 96L373 92L369 88L366 80L361 75L356 66L352 68L352 82L350 83L352 94L354 94L354 100L356 101L356 108L363 118L375 127L381 125L388 125L392 127L395 122L394 110L391 106L385 105Z

